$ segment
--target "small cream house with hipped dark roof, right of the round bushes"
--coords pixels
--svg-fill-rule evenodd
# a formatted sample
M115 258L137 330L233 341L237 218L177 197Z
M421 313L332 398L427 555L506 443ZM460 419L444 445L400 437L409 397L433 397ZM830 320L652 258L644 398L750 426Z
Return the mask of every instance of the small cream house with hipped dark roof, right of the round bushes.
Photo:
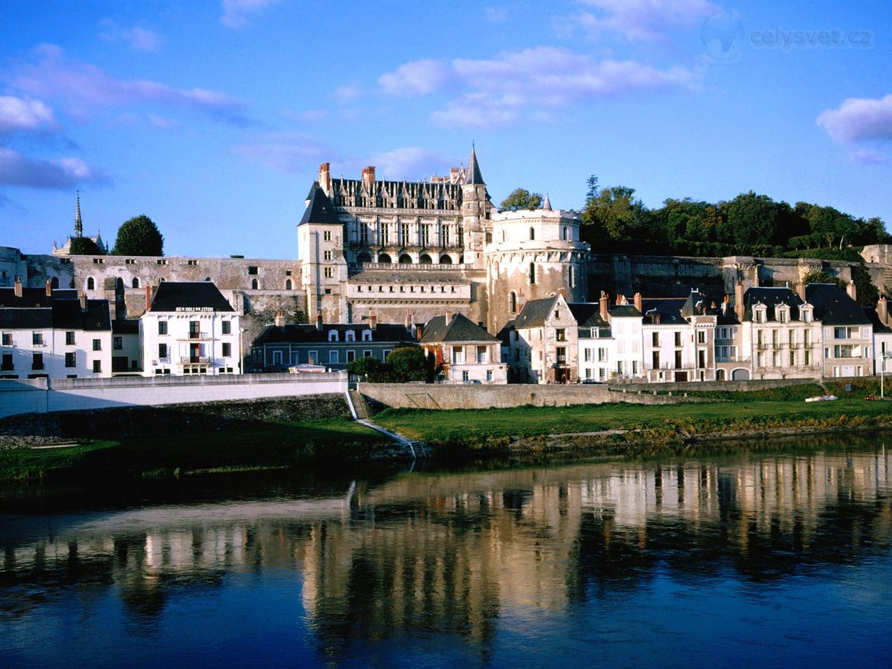
M442 374L451 383L508 383L501 361L501 343L483 327L461 314L431 318L421 335L425 353L442 362Z

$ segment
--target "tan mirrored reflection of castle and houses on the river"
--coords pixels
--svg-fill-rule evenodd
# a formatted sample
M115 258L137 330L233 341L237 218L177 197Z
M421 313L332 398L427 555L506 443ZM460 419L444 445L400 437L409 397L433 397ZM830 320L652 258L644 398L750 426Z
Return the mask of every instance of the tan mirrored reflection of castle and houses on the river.
M5 541L0 575L114 583L157 615L170 589L275 567L299 574L326 648L433 620L485 644L507 611L635 589L657 563L764 578L858 560L892 541L890 486L885 452L401 476L329 500L112 514Z

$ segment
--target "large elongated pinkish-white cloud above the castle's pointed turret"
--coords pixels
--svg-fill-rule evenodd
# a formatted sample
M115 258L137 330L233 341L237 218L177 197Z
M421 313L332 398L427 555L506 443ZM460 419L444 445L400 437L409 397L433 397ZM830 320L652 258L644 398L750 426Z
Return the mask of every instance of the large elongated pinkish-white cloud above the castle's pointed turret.
M393 92L397 81L408 82L401 92L412 91L411 82L421 70L435 70L430 61L410 62L385 74L385 92ZM586 99L629 95L650 90L694 89L698 72L681 67L657 70L634 61L600 61L563 48L540 46L500 54L488 60L457 58L438 63L442 74L429 78L428 87L416 86L416 95L442 90L448 82L461 94L435 111L431 120L441 125L491 128L505 125L521 115L541 116Z

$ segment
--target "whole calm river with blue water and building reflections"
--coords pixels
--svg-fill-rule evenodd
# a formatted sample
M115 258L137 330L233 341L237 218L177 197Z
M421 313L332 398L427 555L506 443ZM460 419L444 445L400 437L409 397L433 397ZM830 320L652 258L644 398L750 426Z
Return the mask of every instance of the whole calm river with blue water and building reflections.
M879 438L485 467L4 491L0 667L892 665Z

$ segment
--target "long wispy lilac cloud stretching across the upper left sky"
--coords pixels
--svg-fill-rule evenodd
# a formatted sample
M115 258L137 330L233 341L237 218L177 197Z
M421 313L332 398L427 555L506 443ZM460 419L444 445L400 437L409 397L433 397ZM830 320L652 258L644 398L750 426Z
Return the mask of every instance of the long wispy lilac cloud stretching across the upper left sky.
M70 111L86 116L89 109L154 103L201 111L236 125L249 122L244 103L204 88L181 89L147 79L119 79L105 71L66 58L61 47L41 45L37 62L26 64L10 78L13 87L32 95L61 98Z

